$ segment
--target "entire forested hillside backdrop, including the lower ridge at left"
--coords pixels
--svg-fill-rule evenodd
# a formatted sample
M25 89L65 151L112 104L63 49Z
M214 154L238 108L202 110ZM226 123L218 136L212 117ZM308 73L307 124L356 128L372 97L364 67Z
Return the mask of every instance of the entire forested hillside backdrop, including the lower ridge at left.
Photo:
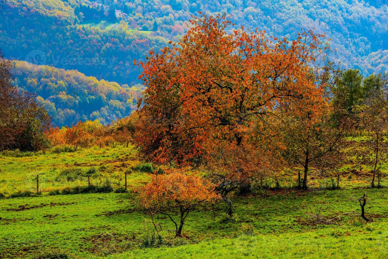
M111 119L128 115L139 96L133 90L126 92L128 87L140 83L140 69L133 65L133 59L141 61L151 48L159 50L169 40L178 41L187 31L191 15L198 15L198 11L225 12L232 15L234 28L257 27L279 37L296 38L302 29L315 27L315 32L326 33L332 39L328 56L341 69L360 69L364 76L388 69L388 7L379 0L201 3L194 0L6 0L1 3L2 52L9 59L51 66L18 62L14 74L19 87L36 92L54 123L60 126L79 119L98 118L102 123L109 123ZM85 76L54 67L78 70ZM76 79L72 75L77 75ZM77 81L80 78L82 82ZM76 84L72 83L74 80ZM124 85L126 90L103 80ZM97 92L92 90L94 83L99 85ZM114 90L113 95L104 92L111 90L112 84L120 90ZM122 91L126 94L121 96Z

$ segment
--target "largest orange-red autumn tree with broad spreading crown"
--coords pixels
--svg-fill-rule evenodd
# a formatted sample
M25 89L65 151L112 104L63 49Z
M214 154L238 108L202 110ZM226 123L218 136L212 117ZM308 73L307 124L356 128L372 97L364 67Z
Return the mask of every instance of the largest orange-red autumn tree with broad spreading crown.
M292 41L243 27L228 33L228 19L193 17L178 43L135 61L147 86L136 141L156 163L210 165L231 205L227 193L279 166L282 145L266 130L274 110L310 112L324 101L315 62L327 47L313 31Z

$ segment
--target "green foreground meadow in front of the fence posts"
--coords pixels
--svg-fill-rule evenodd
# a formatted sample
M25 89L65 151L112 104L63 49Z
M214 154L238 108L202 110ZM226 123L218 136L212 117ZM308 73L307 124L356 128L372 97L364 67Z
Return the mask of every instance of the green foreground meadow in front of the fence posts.
M356 243L360 242L365 249L360 256L385 257L388 245L386 190L368 191L378 203L366 209L368 215L374 217L374 221L367 224L349 216L342 218L342 226L309 224L298 209L304 200L312 204L320 199L330 202L331 214L350 211L355 206L348 200L349 195L362 192L364 190L309 192L307 195L262 193L254 197L235 197L238 215L235 223L222 223L222 204L216 208L215 218L212 212L193 212L184 228L186 238L174 239L171 233L163 233L166 247L159 249L140 249L144 220L148 217L136 209L128 193L5 199L0 200L0 254L24 257L44 247L59 247L81 257L187 257L191 254L196 257L223 254L357 257ZM20 208L26 209L12 211ZM158 217L157 221L166 228L171 227L164 217ZM242 224L249 225L256 235L240 236ZM187 245L170 248L177 244Z

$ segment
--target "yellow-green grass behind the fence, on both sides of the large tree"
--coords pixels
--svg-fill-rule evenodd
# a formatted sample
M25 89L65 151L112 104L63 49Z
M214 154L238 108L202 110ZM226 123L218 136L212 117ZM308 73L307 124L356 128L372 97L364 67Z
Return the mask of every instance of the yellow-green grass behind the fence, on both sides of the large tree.
M64 167L76 166L88 169L95 166L99 169L101 175L98 178L91 179L92 183L100 183L104 178L108 178L114 187L123 185L123 176L127 168L139 164L137 159L137 150L134 147L123 147L118 145L116 148L92 147L80 149L73 153L55 154L52 151L42 155L36 153L29 157L10 157L0 153L0 193L9 195L17 191L35 191L36 174L40 177L40 190L49 192L54 189L63 189L67 186L86 185L87 179L76 180L73 182L55 181L58 174ZM371 181L369 169L363 169L352 173L352 164L344 166L341 170L341 187L367 186ZM384 172L387 165L383 165ZM350 177L351 176L351 177ZM302 176L303 177L303 176ZM139 181L141 180L141 181ZM141 174L128 176L128 185L136 185L144 182L145 178ZM265 179L266 186L276 186L276 182L286 188L297 185L297 172L287 171L287 173ZM336 178L333 177L336 185ZM327 188L331 186L331 178L320 176L319 173L311 172L309 174L308 185L315 188ZM385 185L385 179L382 180Z

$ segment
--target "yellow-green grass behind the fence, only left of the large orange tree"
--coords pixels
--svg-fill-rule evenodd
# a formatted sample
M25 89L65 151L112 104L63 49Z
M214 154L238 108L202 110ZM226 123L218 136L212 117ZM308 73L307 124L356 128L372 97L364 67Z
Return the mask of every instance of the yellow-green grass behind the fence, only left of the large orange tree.
M76 152L55 154L51 151L42 155L29 157L0 156L0 193L14 193L19 190L35 191L36 174L39 174L40 190L48 192L53 189L63 189L66 186L87 185L87 179L55 181L61 169L69 166L81 167L86 170L91 166L99 169L101 175L91 179L92 183L99 183L108 178L116 187L124 184L124 171L138 164L136 150L133 147L79 149ZM128 185L135 184L141 176L128 176Z

